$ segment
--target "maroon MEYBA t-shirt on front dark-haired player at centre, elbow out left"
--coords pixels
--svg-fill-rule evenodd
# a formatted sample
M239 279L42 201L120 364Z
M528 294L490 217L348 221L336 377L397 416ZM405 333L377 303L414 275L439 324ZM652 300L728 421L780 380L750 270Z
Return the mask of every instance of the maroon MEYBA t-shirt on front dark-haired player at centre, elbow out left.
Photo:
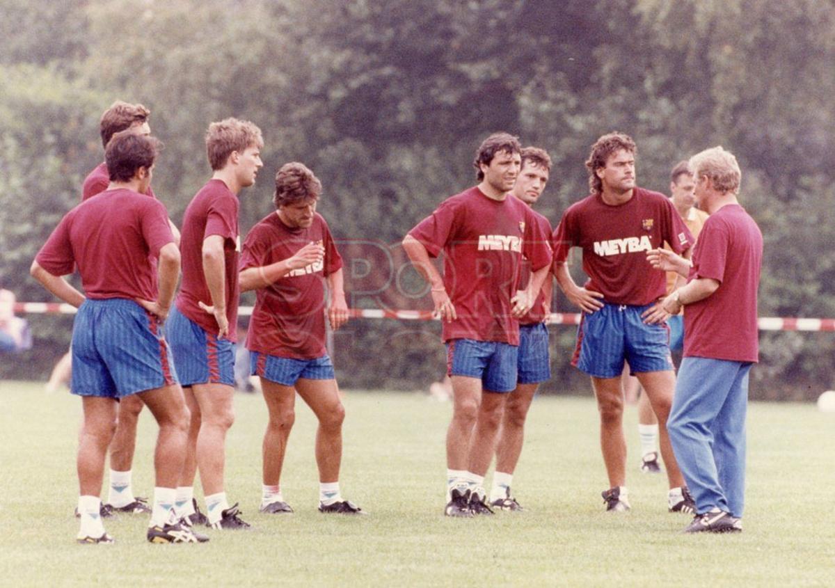
M443 341L474 339L519 345L510 299L522 255L533 271L551 261L549 236L529 206L514 196L498 201L478 187L454 195L409 232L443 260L443 284L458 316L443 322Z

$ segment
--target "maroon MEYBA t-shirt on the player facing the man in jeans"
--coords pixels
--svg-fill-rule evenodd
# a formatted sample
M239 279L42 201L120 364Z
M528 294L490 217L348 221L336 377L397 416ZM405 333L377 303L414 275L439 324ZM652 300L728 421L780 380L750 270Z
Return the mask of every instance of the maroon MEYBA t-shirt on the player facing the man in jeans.
M554 263L564 263L569 249L579 246L586 289L610 304L644 306L665 294L665 273L646 261L646 252L665 241L680 254L695 241L665 195L635 188L624 204L608 205L592 194L563 213L554 231Z

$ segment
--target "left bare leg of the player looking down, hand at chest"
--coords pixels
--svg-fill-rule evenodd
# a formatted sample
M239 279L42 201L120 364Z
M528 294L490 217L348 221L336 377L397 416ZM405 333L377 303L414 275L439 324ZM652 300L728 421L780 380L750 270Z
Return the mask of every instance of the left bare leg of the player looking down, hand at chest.
M261 378L261 390L264 393L264 401L269 413L264 442L261 444L263 482L265 487L275 487L276 494L278 494L287 439L290 438L291 428L296 422L296 388ZM265 506L266 504L262 501L261 507Z

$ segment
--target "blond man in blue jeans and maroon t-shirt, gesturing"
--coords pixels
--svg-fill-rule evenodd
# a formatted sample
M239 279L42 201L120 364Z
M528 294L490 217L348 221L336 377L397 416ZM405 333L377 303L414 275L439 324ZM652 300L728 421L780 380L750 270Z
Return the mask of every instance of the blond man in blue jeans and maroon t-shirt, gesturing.
M710 218L693 263L653 251L655 267L688 276L661 312L685 308L684 359L667 429L696 499L686 533L742 530L748 373L758 360L757 286L762 233L739 205L741 172L721 147L693 155L696 200ZM692 267L691 267L692 265Z

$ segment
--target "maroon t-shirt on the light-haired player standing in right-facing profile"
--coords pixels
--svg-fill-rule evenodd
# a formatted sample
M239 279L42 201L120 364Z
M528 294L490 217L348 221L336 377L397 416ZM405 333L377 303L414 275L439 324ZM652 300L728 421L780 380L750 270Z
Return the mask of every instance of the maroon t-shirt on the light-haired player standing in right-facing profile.
M238 197L221 180L209 180L185 209L183 230L180 234L180 254L183 281L177 296L177 308L185 317L196 322L207 332L217 333L215 317L205 312L198 302L211 306L209 286L203 275L203 241L220 235L224 239L226 282L226 318L229 321L227 338L235 342L238 322Z

